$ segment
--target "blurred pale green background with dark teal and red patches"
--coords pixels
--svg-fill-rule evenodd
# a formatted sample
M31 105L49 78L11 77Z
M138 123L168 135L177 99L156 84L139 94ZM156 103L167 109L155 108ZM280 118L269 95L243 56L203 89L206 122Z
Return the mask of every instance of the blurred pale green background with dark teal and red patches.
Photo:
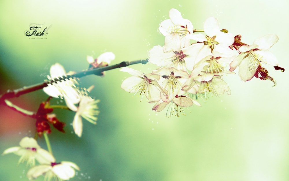
M0 1L0 93L42 82L49 68L66 71L88 67L86 56L114 52L112 62L147 58L154 45L164 45L158 33L171 8L178 9L195 29L211 16L220 28L242 35L247 44L265 34L277 34L271 48L285 72L265 66L271 81L242 82L225 77L231 95L209 98L192 106L186 116L165 117L151 104L121 89L129 76L119 70L105 77L81 78L81 86L95 85L91 96L100 99L97 125L84 121L78 138L71 126L74 113L56 110L66 122L65 134L49 135L57 161L75 162L81 170L71 180L289 180L289 85L286 0L244 1ZM51 25L43 40L29 39L30 23ZM153 65L132 65L149 73ZM36 111L47 95L32 92L11 101ZM54 99L55 104L63 104ZM186 110L186 109L185 109ZM0 152L34 136L35 120L0 105ZM43 138L38 139L47 148ZM0 156L0 180L28 180L19 157ZM37 180L43 180L40 177Z

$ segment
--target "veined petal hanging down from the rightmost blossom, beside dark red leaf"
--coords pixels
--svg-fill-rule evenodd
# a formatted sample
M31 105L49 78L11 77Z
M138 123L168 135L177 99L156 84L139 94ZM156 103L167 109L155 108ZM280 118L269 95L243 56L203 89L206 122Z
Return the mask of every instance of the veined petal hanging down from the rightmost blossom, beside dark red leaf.
M240 63L239 76L240 76L242 81L244 81L244 82L250 81L253 78L253 76L256 73L256 70L259 66L259 64L257 64L255 61L254 61L254 64L255 65L253 65L253 66L255 66L255 68L253 68L253 66L251 65L249 56L245 57L243 59L243 61ZM249 67L251 67L251 69L249 69Z

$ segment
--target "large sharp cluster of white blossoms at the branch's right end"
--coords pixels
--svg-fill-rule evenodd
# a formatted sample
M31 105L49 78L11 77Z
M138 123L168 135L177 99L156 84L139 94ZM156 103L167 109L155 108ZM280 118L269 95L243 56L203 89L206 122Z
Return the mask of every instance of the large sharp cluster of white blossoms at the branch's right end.
M168 116L179 116L180 112L184 115L183 107L200 106L192 98L231 94L222 77L235 74L232 71L236 67L242 81L253 76L273 80L262 63L278 66L277 58L268 50L278 41L276 35L262 36L249 46L241 42L240 35L234 37L225 29L220 30L214 17L205 21L204 30L195 30L176 9L169 11L169 17L159 27L165 36L164 46L149 50L149 62L158 69L149 74L127 67L121 69L132 75L123 81L121 88L146 96L149 103L155 103L153 110L162 111L169 104Z

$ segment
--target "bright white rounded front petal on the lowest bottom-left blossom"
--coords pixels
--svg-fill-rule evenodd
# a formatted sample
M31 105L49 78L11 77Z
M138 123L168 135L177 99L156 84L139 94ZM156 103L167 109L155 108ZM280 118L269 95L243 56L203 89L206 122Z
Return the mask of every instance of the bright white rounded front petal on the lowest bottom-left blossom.
M62 162L52 167L52 171L62 180L68 180L75 175L75 170Z

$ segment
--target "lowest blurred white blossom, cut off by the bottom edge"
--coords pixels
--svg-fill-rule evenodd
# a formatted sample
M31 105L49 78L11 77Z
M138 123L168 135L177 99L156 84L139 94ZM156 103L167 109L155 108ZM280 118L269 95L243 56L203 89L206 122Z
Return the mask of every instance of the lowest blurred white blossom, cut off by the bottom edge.
M29 180L32 180L45 174L45 181L50 181L52 178L55 180L69 180L75 175L74 169L79 170L79 167L73 162L51 162L50 164L32 167L27 171L27 177Z

